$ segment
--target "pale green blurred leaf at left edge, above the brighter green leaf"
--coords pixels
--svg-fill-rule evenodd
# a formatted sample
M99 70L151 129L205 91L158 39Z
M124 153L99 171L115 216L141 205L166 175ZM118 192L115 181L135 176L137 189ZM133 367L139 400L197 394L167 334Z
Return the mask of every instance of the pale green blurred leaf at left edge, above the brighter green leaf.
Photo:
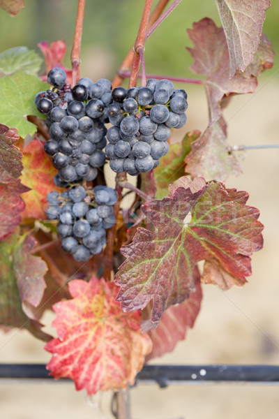
M37 75L42 62L43 59L27 47L10 48L0 54L0 77L17 71Z

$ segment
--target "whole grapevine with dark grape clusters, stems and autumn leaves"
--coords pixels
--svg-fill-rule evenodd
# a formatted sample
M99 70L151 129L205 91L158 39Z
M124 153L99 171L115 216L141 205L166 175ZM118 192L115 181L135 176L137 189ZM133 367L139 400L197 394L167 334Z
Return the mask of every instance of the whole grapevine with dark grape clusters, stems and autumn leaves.
M145 1L133 49L112 81L82 73L85 0L78 2L71 69L63 64L63 41L43 42L44 75L24 66L8 73L7 66L0 78L0 297L17 296L13 309L5 300L0 323L46 341L50 374L72 378L89 394L120 395L133 385L144 360L172 351L183 338L169 318L183 316L185 336L199 314L202 284L243 286L250 256L263 246L259 210L247 205L246 191L224 184L241 170L223 109L235 94L254 92L257 77L273 65L262 34L269 1L248 0L249 11L239 6L255 22L253 43L233 36L228 20L236 17L224 13L222 1L222 27L204 18L188 29L191 68L203 79L146 73L146 39L180 2L164 12L168 1L160 0L151 12L152 1ZM2 3L9 13L20 11ZM178 82L205 89L209 124L174 143L188 109L187 89ZM13 116L10 94L18 91L22 101ZM51 297L47 271L57 288ZM50 307L57 337L39 322ZM172 339L162 343L162 330Z

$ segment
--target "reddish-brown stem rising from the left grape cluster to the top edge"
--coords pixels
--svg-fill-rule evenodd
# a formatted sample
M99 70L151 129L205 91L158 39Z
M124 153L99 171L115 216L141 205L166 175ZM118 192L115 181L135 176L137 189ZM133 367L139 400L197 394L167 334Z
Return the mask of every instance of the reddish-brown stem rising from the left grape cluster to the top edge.
M75 21L75 35L73 48L70 54L70 61L73 68L73 86L80 78L80 48L82 45L82 27L84 18L84 8L86 0L79 0L77 5L77 20Z

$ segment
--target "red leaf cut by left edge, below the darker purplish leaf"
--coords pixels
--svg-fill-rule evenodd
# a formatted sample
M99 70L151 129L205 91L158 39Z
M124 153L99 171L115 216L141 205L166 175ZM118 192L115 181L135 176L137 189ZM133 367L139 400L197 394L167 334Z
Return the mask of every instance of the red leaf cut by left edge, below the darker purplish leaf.
M22 221L20 213L25 203L21 194L29 191L19 180L10 184L0 184L0 240L5 240Z

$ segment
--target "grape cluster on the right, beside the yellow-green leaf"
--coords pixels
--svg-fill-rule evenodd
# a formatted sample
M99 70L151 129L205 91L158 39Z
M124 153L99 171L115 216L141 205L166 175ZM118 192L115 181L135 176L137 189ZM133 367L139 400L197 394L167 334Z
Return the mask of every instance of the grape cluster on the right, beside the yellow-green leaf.
M186 124L187 94L169 80L148 80L146 87L112 90L107 108L112 127L105 154L116 173L149 172L169 151L171 128Z

